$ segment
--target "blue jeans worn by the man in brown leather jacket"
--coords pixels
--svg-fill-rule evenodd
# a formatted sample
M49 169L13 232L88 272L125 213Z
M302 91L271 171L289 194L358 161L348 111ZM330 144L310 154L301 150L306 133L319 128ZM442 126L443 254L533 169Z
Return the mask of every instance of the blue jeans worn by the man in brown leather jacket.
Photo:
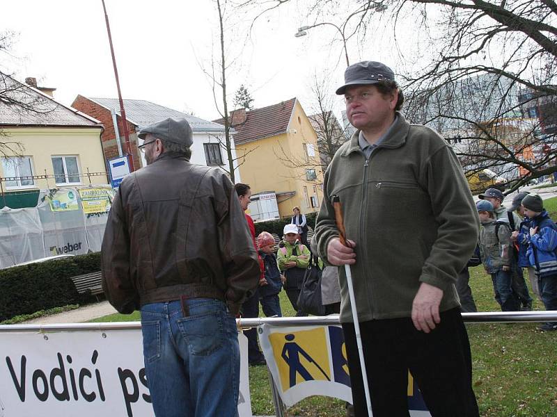
M141 307L143 359L156 416L237 417L240 346L226 304L209 298Z

